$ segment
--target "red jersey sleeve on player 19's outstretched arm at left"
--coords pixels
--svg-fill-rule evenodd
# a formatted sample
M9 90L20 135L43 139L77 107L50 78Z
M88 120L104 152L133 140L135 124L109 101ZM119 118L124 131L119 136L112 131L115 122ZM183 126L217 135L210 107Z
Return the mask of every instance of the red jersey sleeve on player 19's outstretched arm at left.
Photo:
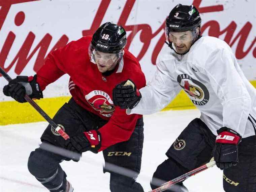
M37 71L37 83L42 91L66 73L65 57L69 51L70 43L47 56L44 65Z

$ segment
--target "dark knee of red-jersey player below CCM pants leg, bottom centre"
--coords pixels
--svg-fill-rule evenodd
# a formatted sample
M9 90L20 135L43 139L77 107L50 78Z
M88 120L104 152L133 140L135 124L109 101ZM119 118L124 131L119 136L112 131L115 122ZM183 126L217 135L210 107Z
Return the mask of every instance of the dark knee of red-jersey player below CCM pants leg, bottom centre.
M117 173L110 173L111 192L144 192L142 186L133 178Z

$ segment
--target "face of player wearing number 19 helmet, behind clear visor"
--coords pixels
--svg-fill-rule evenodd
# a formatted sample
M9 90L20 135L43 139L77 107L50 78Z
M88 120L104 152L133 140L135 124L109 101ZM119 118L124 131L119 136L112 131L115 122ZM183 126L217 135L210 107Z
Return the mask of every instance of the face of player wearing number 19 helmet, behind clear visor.
M95 51L94 57L97 67L101 73L112 70L117 65L117 54Z

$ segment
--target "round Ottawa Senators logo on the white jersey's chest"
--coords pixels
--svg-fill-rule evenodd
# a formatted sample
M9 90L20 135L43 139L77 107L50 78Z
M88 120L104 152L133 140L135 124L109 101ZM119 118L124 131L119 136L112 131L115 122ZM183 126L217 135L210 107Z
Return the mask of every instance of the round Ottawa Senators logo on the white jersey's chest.
M201 82L188 74L178 75L177 81L195 105L205 105L209 101L209 91Z

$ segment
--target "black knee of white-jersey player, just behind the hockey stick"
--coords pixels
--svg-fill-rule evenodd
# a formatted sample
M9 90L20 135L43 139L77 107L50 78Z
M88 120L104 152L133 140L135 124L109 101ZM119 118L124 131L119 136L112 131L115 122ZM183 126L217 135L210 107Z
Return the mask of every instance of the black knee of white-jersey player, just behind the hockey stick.
M166 183L172 179L175 179L184 173L189 172L189 170L179 164L172 158L168 158L163 163L158 165L156 171L153 174L151 180L151 188L156 189L161 186L163 183ZM168 192L188 192L187 188L183 183L178 183L172 186L170 189L166 190Z

